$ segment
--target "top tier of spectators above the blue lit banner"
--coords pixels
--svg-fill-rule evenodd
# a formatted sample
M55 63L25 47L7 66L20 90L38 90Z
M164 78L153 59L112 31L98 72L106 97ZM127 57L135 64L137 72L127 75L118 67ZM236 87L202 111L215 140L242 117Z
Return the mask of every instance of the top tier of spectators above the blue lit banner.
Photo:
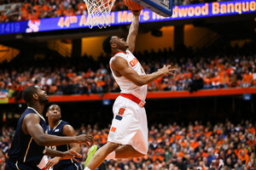
M182 5L212 1L216 0L174 0L173 3ZM86 8L83 0L0 0L0 23L87 14ZM125 9L123 0L116 0L112 8L113 11Z

